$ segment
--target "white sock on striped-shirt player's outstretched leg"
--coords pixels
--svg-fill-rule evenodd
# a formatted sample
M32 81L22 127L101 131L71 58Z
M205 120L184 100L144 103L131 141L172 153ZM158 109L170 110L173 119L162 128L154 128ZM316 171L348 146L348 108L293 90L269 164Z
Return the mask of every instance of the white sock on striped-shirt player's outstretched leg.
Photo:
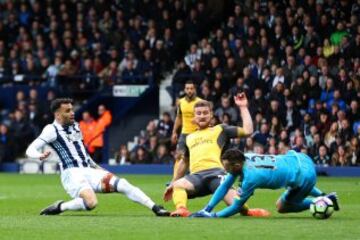
M115 178L113 177L110 180L110 185L119 192L125 194L130 200L140 203L149 209L152 209L155 203L138 187L131 185L124 178Z

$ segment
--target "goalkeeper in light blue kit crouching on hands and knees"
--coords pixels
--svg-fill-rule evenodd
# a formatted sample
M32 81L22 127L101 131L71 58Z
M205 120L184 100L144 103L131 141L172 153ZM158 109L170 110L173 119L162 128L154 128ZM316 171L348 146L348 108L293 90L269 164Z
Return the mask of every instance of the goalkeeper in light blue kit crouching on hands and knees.
M243 154L238 149L229 149L222 156L222 162L228 175L219 186L207 206L194 213L193 217L229 217L237 212L253 195L255 189L287 190L277 201L279 213L301 212L309 209L312 199L308 196L319 197L325 195L315 187L316 172L313 161L303 153L289 151L286 155L257 155ZM242 182L239 187L240 197L231 206L212 213L211 211L226 195L236 178ZM334 204L334 210L339 210L336 193L326 195Z

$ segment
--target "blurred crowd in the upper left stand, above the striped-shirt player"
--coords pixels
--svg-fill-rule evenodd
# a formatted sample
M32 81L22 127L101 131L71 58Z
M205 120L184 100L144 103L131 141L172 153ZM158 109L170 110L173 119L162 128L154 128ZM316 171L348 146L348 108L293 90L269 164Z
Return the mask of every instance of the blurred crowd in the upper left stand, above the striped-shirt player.
M88 97L114 84L152 84L204 35L204 6L1 1L0 85L49 86Z

